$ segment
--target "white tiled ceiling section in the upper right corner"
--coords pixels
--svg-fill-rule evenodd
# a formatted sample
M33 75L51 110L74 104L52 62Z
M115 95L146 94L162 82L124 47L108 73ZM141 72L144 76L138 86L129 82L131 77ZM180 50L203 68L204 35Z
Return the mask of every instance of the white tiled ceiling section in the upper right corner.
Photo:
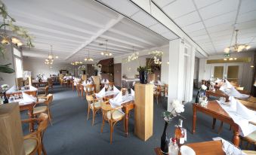
M206 53L223 53L238 42L256 47L255 0L153 0Z

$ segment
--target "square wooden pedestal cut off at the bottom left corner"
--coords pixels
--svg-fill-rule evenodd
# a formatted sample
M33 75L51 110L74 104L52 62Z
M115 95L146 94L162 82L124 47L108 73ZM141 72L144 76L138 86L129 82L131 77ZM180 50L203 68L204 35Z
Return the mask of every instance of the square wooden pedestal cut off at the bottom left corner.
M0 154L25 154L18 103L0 105Z

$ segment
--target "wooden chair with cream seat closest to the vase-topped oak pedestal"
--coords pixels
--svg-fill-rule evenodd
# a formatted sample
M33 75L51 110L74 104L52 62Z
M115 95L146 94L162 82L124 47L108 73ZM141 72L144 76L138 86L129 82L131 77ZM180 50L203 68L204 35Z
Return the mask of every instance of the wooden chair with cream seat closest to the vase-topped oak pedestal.
M112 144L112 138L113 138L113 131L114 126L119 120L124 120L124 131L125 131L125 114L119 111L122 106L119 106L117 108L112 108L111 105L109 105L109 101L101 102L101 109L102 109L102 126L101 126L101 133L103 132L103 127L105 124L105 120L110 125L110 144Z

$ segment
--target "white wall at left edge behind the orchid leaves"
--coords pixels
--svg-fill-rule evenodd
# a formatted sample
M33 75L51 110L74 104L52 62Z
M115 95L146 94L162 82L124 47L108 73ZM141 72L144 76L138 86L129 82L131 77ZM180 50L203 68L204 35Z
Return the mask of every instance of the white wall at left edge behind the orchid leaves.
M3 59L2 56L0 56L0 64L6 65L8 63L11 63L9 67L14 68L14 57L13 57L13 50L11 45L6 45L5 49L5 59ZM15 68L14 68L15 70ZM7 73L0 73L0 85L2 84L8 84L10 87L16 85L16 74L15 72L12 74Z

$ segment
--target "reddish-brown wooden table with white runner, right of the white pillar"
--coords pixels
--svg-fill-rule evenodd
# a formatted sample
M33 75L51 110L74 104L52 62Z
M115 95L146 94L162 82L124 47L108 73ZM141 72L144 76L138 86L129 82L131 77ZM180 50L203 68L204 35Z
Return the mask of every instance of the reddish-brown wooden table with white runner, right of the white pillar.
M233 121L229 114L227 114L227 112L221 108L221 105L219 105L217 101L209 101L206 108L197 103L193 103L193 134L196 132L196 114L198 111L202 112L203 114L207 114L214 119L218 119L224 123L230 124L233 129L233 144L239 146L239 126ZM213 126L214 125L215 124L213 124Z

